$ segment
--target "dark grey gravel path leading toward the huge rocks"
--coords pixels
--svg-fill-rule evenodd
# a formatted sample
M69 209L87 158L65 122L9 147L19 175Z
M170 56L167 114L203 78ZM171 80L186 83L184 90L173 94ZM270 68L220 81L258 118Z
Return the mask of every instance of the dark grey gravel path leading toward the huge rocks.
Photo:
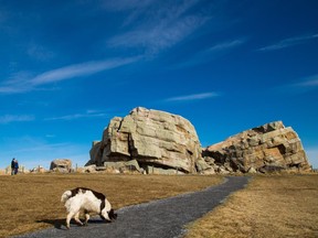
M243 188L247 182L248 177L231 176L226 177L224 183L201 192L120 208L116 210L118 218L115 223L106 224L96 217L92 218L86 227L71 224L71 229L66 230L64 226L57 227L55 224L55 228L18 237L181 237L186 232L184 225L212 210L231 193ZM56 220L55 223L61 221Z

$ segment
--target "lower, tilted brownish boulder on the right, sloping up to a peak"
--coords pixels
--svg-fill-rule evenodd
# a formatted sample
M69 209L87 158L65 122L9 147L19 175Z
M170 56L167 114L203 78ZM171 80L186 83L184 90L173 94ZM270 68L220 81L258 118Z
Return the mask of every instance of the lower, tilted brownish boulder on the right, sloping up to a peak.
M204 160L233 172L309 171L298 134L282 121L266 123L203 150Z

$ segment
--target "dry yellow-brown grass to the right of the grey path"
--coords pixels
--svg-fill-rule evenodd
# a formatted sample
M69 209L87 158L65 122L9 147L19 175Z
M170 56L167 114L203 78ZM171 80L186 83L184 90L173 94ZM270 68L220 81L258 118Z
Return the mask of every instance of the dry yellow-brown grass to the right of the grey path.
M318 237L318 175L255 176L187 238Z

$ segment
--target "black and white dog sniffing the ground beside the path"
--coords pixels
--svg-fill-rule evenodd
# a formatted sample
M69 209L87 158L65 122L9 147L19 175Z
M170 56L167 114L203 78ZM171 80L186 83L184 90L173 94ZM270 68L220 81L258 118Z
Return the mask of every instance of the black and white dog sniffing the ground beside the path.
M70 221L73 217L81 226L87 225L89 213L98 214L102 219L107 221L117 218L117 214L114 213L114 209L106 196L89 188L77 187L71 191L65 191L62 194L61 202L65 204L67 210L67 229L70 229ZM85 214L84 224L80 220L81 212L84 212Z

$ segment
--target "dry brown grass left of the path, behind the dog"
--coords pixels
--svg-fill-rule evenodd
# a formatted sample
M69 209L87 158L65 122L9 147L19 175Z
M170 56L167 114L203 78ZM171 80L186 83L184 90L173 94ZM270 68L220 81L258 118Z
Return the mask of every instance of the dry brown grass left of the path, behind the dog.
M43 174L0 176L0 237L64 224L61 195L77 186L106 194L115 209L218 184L221 176Z

